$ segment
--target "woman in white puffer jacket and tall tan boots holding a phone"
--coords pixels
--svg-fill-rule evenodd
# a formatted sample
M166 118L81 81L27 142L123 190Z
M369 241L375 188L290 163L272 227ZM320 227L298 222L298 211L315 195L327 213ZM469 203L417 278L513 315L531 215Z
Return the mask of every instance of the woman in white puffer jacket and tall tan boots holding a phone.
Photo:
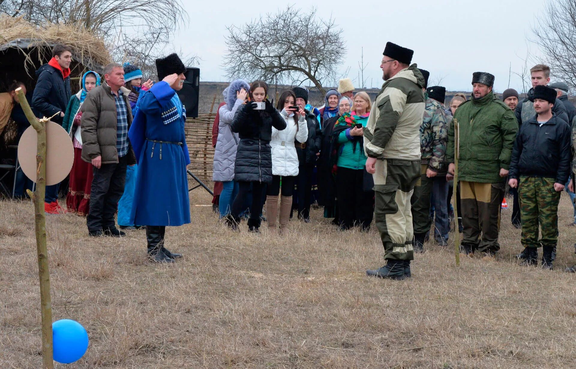
M288 226L292 207L292 191L298 175L298 153L294 141L306 143L308 140L308 122L306 112L296 106L296 95L292 91L284 91L278 99L276 109L286 121L286 129L278 130L272 127L272 183L268 184L266 198L266 218L268 228L276 229L278 214L278 195L282 177L282 197L280 200L280 231ZM314 121L316 121L314 119Z

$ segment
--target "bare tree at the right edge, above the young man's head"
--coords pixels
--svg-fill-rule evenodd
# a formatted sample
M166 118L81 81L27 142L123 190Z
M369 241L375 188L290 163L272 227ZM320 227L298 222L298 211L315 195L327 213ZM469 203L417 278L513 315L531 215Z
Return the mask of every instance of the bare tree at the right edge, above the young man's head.
M551 74L575 88L576 1L555 0L545 3L532 27L532 33L532 42L544 52Z

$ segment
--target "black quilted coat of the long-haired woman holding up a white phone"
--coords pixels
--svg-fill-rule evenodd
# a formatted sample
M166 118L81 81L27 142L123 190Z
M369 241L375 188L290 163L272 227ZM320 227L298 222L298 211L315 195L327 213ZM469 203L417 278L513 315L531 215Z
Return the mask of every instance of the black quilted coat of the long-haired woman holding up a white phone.
M272 182L272 152L270 140L272 126L278 130L286 128L286 121L278 110L238 109L230 128L238 133L240 142L234 162L234 180L240 182Z

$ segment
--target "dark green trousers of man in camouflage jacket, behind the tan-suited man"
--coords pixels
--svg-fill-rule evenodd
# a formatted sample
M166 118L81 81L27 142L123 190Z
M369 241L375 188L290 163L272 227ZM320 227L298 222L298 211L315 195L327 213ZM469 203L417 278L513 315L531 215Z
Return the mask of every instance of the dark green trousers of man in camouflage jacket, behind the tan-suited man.
M420 178L414 186L414 193L410 199L412 206L412 222L416 235L430 230L430 194L432 193L433 178L426 176L427 164L420 164Z

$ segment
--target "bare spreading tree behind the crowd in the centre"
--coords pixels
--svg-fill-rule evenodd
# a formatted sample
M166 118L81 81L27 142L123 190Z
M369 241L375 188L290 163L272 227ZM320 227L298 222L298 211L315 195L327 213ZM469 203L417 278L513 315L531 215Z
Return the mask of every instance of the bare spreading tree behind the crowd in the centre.
M334 78L346 54L342 29L332 18L317 18L316 9L287 6L228 31L224 66L230 78L310 81L324 94L323 82Z

